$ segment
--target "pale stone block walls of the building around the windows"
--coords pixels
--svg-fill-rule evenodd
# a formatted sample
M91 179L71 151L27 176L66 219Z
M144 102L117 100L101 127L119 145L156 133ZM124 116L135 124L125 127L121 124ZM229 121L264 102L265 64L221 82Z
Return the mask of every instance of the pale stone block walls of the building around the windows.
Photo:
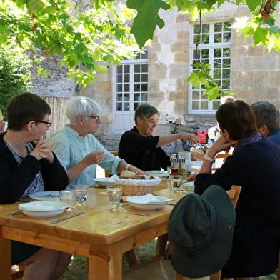
M274 13L279 15L279 4ZM148 103L156 106L160 112L159 126L156 134L168 134L170 126L166 125L166 114L170 119L182 124L198 124L201 129L216 126L214 110L209 112L190 112L190 86L186 82L190 74L190 45L192 22L188 14L172 11L160 11L164 19L163 29L156 29L152 46L149 47L148 64ZM228 3L219 7L218 11L204 16L203 22L217 22L236 17L249 16L246 6ZM277 19L277 21L279 21ZM42 84L34 88L39 95L69 98L75 94L89 96L96 100L104 110L102 124L99 126L98 136L101 140L114 134L116 122L116 66L108 65L106 74L96 74L93 84L76 92L73 80L61 84L60 70L54 71L55 89ZM254 46L249 38L239 36L232 30L231 45L231 92L236 99L242 99L251 104L256 101L269 100L280 108L280 56L276 51L269 53L263 46ZM49 80L49 83L52 83ZM62 108L63 110L63 108Z

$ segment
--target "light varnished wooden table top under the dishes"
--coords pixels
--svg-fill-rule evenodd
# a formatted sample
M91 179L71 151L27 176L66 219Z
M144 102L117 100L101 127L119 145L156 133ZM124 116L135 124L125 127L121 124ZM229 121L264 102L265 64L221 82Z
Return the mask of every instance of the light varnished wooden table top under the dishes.
M162 180L154 191L156 196L180 199L181 194L176 194L171 190L169 181ZM185 195L185 194L183 194ZM15 229L36 231L51 236L59 236L64 239L83 241L89 244L106 246L116 241L133 236L143 229L149 229L156 224L168 221L172 205L166 205L158 211L141 211L132 206L125 206L129 211L143 212L151 217L136 216L128 214L121 209L116 212L109 211L111 206L106 198L106 188L91 188L86 206L76 206L76 209L64 211L59 216L52 218L32 218L25 214L7 217L6 214L18 211L18 206L22 202L15 204L0 204L0 225ZM77 211L84 210L85 213L71 219L66 219L58 224L51 224L51 221L59 219Z

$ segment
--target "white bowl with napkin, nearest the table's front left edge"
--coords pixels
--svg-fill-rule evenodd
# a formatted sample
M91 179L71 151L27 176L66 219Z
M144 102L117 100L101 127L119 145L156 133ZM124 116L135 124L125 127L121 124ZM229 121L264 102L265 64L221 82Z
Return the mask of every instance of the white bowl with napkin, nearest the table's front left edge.
M34 201L19 204L19 209L33 218L51 218L64 212L68 206L60 201Z

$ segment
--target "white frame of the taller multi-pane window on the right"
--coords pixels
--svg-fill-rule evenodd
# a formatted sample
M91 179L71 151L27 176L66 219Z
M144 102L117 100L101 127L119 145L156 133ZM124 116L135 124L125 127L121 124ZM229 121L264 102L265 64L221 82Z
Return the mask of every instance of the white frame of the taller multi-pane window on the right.
M233 34L232 34L232 30L231 30L231 40L230 41L226 41L226 42L222 42L222 43L215 43L214 42L214 24L216 23L220 23L220 22L232 22L232 19L222 19L222 20L216 20L216 21L203 21L202 24L209 24L209 44L199 44L198 48L199 49L209 49L209 64L211 64L211 66L213 66L214 64L214 49L215 48L230 48L231 49L231 65L229 67L229 71L230 71L230 78L229 80L231 81L231 74L232 74L232 39L233 39ZM189 65L189 69L190 72L195 71L196 69L193 69L193 67L191 66L191 64L194 63L194 51L196 50L196 44L193 44L194 42L194 25L199 24L198 22L195 22L194 24L190 24L191 27L191 32L190 32L190 46L189 46L189 53L190 53L190 65ZM222 68L221 68L222 69ZM211 67L211 76L213 77L213 67ZM229 86L229 89L226 89L228 91L231 91L231 83ZM221 105L221 99L215 99L213 101L208 101L208 109L193 109L192 105L193 105L193 91L195 91L195 89L193 89L193 85L191 83L189 83L189 114L215 114L216 113L216 109L213 109L213 103L219 102L219 105ZM199 91L202 91L201 88L199 89ZM197 101L199 101L199 108L201 108L201 101L204 99L201 99L201 97L199 99L196 99Z

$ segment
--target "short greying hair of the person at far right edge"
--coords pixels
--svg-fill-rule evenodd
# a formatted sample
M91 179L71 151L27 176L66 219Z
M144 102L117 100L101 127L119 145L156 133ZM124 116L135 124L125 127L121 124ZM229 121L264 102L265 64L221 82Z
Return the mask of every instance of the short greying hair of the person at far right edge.
M251 104L251 109L256 115L256 126L258 129L262 125L266 125L269 131L279 129L280 112L274 104L269 101L259 101Z

